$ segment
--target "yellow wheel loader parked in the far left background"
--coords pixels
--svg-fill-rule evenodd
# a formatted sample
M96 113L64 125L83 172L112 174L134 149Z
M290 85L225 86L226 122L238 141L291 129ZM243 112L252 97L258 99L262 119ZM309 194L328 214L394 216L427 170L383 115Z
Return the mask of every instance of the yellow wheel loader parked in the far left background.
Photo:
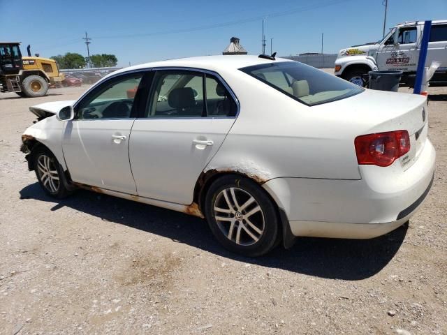
M45 96L51 85L59 86L64 74L53 59L22 57L20 42L0 42L0 92L15 92L33 98Z

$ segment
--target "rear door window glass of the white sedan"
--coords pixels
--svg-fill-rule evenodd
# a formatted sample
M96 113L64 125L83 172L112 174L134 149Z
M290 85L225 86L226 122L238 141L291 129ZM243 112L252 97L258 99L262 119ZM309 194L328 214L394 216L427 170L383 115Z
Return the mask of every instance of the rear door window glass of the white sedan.
M207 73L160 70L152 82L145 117L234 117L237 105L223 84Z

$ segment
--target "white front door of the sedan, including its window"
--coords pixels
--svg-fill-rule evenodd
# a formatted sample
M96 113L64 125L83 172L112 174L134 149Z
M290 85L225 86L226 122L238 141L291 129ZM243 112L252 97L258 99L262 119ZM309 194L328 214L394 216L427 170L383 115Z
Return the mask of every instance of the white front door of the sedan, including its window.
M113 77L75 105L62 148L73 181L136 194L129 163L134 97L142 73Z

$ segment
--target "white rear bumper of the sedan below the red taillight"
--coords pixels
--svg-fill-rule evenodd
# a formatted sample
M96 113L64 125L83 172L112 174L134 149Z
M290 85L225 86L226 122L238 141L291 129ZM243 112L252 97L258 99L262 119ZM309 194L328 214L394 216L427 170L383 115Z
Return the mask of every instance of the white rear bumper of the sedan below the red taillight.
M277 178L263 186L284 209L293 235L368 239L416 212L432 186L435 157L426 140L405 171L362 165L360 180Z

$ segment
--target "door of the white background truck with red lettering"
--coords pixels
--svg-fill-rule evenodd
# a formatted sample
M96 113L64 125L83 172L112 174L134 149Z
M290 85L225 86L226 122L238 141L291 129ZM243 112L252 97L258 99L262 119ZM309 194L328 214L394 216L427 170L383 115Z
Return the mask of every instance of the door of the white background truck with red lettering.
M377 50L379 70L416 71L419 50L416 26L400 28L398 40L393 34Z

